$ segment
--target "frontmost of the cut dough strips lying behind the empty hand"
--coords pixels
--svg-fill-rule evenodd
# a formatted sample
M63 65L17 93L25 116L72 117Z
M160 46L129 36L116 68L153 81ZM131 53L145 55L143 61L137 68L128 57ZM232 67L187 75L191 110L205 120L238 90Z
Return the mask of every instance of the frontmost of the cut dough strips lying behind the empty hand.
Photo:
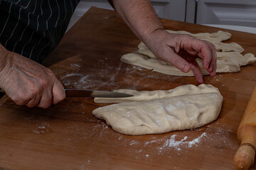
M241 55L239 52L217 52L217 70L216 72L240 72L240 67L256 62L256 57L251 53ZM130 53L123 55L121 61L127 64L134 64L146 69L151 69L153 72L161 72L169 75L192 77L193 72L183 73L174 65L164 62L156 58L146 57L138 53ZM203 75L209 73L203 68L202 60L196 60Z

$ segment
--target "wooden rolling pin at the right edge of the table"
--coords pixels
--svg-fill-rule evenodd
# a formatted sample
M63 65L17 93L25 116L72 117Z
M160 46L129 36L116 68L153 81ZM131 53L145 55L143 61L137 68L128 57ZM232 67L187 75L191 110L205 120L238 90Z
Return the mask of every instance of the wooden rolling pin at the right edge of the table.
M234 157L235 167L239 170L250 169L256 152L256 86L242 116L237 135L241 145Z

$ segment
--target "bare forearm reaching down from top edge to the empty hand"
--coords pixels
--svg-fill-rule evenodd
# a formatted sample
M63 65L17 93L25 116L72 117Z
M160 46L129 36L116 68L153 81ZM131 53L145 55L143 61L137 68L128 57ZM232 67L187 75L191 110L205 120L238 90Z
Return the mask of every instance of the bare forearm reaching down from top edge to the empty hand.
M149 0L113 0L113 6L127 26L143 42L147 42L155 30L163 29Z

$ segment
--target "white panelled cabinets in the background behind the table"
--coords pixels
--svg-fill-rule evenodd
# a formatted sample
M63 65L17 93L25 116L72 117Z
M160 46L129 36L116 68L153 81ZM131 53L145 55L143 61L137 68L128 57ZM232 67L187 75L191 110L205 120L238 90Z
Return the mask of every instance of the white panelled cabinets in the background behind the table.
M256 28L256 0L151 0L151 3L160 18ZM68 29L91 6L114 10L107 0L81 0Z

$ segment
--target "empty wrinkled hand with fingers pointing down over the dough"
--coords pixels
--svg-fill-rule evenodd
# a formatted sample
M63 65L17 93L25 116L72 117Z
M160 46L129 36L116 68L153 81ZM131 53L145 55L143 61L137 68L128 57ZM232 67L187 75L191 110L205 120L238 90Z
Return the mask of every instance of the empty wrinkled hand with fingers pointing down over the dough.
M146 42L159 59L173 64L181 72L191 70L199 84L203 83L203 75L196 58L200 57L203 60L203 68L211 77L215 76L217 55L215 46L208 41L159 29L151 33Z

